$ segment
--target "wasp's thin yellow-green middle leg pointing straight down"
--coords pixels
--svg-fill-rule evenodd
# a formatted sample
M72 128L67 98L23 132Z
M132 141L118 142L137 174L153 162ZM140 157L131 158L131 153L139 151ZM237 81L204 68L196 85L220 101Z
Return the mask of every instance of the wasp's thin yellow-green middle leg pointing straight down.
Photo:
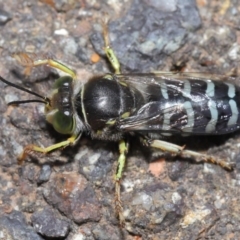
M128 143L124 140L121 140L119 143L119 152L120 156L118 158L118 166L115 175L115 206L116 206L116 213L119 218L120 225L123 227L125 225L125 218L123 216L123 207L121 202L121 179L124 170L124 166L126 163L126 154L128 152Z

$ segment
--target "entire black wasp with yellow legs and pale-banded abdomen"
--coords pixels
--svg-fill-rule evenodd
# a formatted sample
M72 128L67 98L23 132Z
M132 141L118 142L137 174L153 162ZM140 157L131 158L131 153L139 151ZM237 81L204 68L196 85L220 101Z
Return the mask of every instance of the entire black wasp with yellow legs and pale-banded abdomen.
M54 129L69 135L62 142L48 147L27 145L18 157L20 162L32 153L49 153L74 145L82 133L93 139L119 142L118 166L115 174L116 212L121 225L125 218L120 198L120 184L129 149L128 136L138 136L142 144L231 169L223 159L187 150L160 140L170 135L219 135L240 127L240 88L229 81L191 73L122 74L119 61L110 47L107 26L103 26L105 53L114 74L89 79L82 83L75 72L53 58L32 60L27 54L26 69L40 65L59 69L66 76L58 78L48 97L13 84L12 87L38 97L9 104L40 102L45 104L47 122ZM24 65L24 64L23 64Z

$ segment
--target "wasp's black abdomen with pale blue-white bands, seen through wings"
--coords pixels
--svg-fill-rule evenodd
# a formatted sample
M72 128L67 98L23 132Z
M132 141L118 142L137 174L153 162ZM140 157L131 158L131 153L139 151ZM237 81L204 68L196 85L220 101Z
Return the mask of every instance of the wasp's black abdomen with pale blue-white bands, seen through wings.
M165 134L222 134L240 126L240 89L235 85L206 79L156 82L148 87L149 100L161 105L159 124Z

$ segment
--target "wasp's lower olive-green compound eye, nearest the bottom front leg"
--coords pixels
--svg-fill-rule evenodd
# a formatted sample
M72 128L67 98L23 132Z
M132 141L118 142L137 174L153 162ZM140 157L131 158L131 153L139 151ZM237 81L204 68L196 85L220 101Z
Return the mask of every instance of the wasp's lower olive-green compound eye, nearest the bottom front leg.
M54 114L52 125L61 134L71 134L74 127L73 116L69 111L57 111Z

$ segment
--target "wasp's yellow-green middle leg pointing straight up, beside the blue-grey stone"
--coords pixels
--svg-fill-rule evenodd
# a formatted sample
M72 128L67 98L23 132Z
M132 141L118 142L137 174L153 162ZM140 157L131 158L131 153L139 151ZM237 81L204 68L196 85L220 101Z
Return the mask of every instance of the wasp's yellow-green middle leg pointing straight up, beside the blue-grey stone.
M104 51L106 53L106 56L108 58L108 61L112 65L114 71L116 74L120 74L120 63L118 61L118 58L116 54L114 53L113 49L110 47L110 41L109 41L109 34L108 34L108 19L105 17L105 21L102 23L102 28L103 28L103 38L104 38Z

